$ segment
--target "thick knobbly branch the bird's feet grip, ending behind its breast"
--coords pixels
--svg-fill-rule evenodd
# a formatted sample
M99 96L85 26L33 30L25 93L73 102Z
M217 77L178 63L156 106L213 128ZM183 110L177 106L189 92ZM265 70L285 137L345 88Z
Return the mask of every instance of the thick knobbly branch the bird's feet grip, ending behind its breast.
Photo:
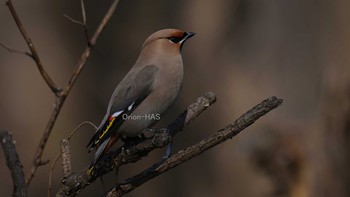
M101 162L95 166L96 173L92 175L87 174L87 168L78 173L73 173L68 177L64 177L61 181L61 186L56 196L75 196L83 188L94 182L99 176L108 173L115 167L125 165L130 162L136 162L146 156L149 152L156 148L166 146L171 141L171 136L174 136L181 131L192 120L199 116L201 112L206 110L211 104L216 101L214 93L208 92L204 96L199 97L192 103L172 124L166 129L168 132L158 132L151 138L147 138L137 144L129 147L122 147L116 152L107 154ZM159 129L163 131L163 129ZM120 156L123 153L123 157Z

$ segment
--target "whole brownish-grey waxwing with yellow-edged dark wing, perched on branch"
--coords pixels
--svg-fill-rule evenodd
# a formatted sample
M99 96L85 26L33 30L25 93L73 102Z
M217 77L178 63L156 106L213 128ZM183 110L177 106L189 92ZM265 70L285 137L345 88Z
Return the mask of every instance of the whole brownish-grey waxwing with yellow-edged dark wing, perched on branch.
M89 152L96 149L88 174L115 142L139 136L175 103L183 82L182 47L194 35L162 29L144 41L139 57L115 88L106 115L87 144Z

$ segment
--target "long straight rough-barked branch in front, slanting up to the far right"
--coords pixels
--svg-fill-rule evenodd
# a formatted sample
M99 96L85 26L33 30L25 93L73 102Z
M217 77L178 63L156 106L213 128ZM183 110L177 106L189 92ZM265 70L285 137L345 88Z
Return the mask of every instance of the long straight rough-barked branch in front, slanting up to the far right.
M163 174L164 172L175 168L176 166L192 159L193 157L198 156L199 154L209 150L210 148L213 148L214 146L225 142L226 140L232 139L242 130L253 124L260 117L280 106L282 102L282 99L278 99L276 97L271 97L262 101L260 104L244 113L233 124L226 126L209 138L204 139L193 146L178 151L176 154L164 162L157 163L150 168L142 171L141 173L126 179L124 183L117 184L112 190L108 192L106 196L119 197L126 193L129 193L145 182L159 176L160 174Z

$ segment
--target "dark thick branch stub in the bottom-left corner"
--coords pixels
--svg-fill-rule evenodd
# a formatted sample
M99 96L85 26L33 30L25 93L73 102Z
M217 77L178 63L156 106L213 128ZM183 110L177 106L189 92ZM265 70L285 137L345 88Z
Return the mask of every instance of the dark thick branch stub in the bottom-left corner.
M23 166L19 160L12 135L7 131L0 131L0 143L4 150L7 167L11 171L14 187L12 196L25 197L27 196L27 185L25 184Z

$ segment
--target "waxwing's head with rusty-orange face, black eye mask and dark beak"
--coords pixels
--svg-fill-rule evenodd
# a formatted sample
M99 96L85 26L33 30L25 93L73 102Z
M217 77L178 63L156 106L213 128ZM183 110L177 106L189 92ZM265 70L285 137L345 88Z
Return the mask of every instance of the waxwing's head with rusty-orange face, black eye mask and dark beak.
M194 35L193 32L185 32L179 29L162 29L150 35L144 42L143 48L152 45L181 50L186 40Z

